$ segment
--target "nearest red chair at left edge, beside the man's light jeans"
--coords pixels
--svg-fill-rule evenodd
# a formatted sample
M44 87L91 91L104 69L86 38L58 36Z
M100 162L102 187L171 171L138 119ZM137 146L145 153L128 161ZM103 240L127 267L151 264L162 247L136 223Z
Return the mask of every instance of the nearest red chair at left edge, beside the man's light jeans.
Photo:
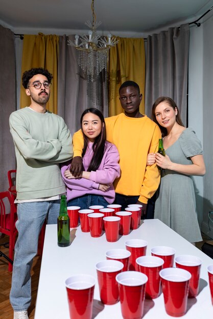
M15 222L17 220L16 205L9 191L0 192L0 232L9 236L9 259L13 260L13 251L15 247L15 237L17 229ZM4 256L4 254L1 254ZM6 258L8 259L8 258ZM13 270L12 263L8 263L8 271Z

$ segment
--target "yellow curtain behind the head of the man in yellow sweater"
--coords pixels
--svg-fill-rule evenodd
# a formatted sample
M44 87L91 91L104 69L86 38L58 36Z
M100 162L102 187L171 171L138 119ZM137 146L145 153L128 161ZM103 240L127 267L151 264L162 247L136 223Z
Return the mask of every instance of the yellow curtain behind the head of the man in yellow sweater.
M143 94L140 113L145 113L145 47L144 39L120 38L109 51L109 116L123 112L119 88L125 81L134 81Z

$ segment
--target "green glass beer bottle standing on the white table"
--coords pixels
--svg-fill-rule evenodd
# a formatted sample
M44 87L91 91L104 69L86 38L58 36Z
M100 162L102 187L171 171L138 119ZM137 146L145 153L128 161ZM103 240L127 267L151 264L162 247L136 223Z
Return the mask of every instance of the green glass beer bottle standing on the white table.
M66 196L61 195L60 211L58 217L58 246L67 247L70 245L69 240L69 217L66 208Z

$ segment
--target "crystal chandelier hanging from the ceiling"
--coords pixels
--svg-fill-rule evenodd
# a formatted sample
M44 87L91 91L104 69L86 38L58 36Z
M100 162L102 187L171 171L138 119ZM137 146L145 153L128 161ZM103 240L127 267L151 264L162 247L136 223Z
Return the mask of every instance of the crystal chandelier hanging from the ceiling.
M87 74L87 80L94 82L99 73L107 68L109 49L119 41L111 34L100 37L97 28L101 21L96 21L94 14L94 0L91 2L92 21L85 21L90 29L88 35L76 35L75 41L68 40L68 45L75 46L78 50L78 65Z

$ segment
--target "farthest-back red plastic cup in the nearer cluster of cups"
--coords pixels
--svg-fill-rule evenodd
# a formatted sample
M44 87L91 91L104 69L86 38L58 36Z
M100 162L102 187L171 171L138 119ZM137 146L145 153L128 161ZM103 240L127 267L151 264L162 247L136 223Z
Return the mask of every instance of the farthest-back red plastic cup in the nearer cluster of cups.
M126 249L131 253L129 257L129 270L137 270L136 259L146 255L147 244L146 241L138 239L132 239L125 242Z

